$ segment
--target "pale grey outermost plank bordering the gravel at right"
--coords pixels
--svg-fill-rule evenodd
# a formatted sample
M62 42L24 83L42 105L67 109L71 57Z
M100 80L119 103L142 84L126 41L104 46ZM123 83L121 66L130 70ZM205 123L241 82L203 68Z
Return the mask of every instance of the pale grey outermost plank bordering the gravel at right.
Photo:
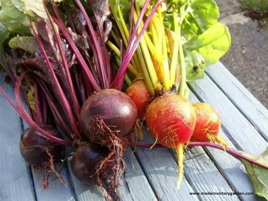
M268 110L221 62L207 67L206 74L268 141Z

